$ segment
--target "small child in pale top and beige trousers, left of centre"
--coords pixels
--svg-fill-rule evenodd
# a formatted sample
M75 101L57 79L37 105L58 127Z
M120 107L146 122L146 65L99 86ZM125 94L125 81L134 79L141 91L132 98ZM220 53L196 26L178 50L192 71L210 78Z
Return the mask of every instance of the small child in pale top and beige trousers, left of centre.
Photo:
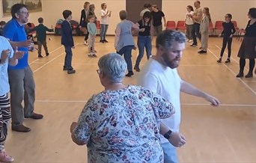
M88 33L89 33L89 46L88 46L88 51L89 51L89 57L97 57L97 55L95 54L95 49L94 49L94 44L95 44L95 37L97 34L97 28L96 25L94 23L94 16L90 15L88 16L88 24L87 24L87 28L88 28Z

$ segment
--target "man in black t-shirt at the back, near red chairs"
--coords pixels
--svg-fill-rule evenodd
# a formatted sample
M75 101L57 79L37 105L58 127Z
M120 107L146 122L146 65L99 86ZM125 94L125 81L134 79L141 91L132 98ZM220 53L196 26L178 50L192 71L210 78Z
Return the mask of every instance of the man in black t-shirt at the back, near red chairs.
M153 28L156 36L162 33L162 18L164 19L166 26L165 13L162 10L158 10L156 4L152 5L152 17L153 17Z

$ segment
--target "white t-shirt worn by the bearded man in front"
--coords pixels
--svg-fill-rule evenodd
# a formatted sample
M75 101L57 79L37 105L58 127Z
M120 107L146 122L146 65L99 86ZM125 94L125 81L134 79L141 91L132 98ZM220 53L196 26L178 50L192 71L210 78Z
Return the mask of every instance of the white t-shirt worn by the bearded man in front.
M180 83L181 79L177 69L165 67L158 61L150 58L141 70L138 84L158 93L174 105L175 114L161 122L168 126L171 131L179 132L180 129ZM161 143L169 142L160 135Z

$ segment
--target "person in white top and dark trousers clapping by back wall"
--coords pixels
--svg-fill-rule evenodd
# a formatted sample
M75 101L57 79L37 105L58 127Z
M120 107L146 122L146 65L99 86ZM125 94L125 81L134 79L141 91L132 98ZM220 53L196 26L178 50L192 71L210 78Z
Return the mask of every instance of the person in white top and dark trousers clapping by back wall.
M112 11L106 10L106 3L101 4L100 10L100 43L108 43L106 40L106 32L109 28L109 17Z

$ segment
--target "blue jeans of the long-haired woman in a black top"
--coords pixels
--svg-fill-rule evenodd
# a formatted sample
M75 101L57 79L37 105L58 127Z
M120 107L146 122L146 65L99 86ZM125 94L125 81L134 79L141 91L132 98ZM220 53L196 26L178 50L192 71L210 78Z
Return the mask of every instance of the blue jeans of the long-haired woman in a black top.
M152 50L151 37L138 35L138 57L136 60L135 67L139 66L139 63L141 62L141 59L143 58L144 47L146 48L147 59L149 59L150 55L151 55L151 50Z

